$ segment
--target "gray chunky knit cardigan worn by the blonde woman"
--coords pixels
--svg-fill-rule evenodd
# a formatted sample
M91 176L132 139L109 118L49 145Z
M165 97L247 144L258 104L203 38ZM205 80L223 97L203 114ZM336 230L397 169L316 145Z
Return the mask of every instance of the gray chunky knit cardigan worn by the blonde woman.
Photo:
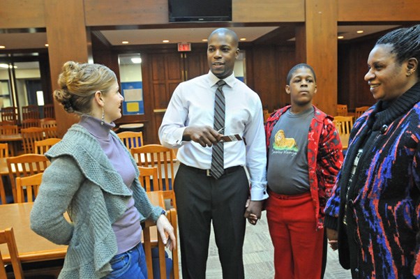
M117 253L111 225L126 211L130 190L98 141L78 124L45 155L52 163L45 169L33 204L31 229L54 243L68 245L59 278L103 278ZM140 220L156 222L163 209L149 202L130 158L136 169L131 189ZM70 223L63 218L66 211Z

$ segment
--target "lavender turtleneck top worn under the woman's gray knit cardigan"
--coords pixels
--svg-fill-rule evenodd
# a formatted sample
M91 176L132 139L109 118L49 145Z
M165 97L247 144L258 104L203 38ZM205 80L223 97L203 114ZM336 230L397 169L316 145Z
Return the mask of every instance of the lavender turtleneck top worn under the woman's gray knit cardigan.
M100 125L100 119L88 115L83 115L79 124L98 140L115 170L121 175L126 186L130 188L135 179L135 169L125 150L126 147L110 134L110 130L114 128L115 124L103 123L103 125ZM134 199L132 197L127 204L126 212L112 224L112 229L114 229L117 237L117 254L126 252L140 243L142 227L139 219L140 215L134 207Z

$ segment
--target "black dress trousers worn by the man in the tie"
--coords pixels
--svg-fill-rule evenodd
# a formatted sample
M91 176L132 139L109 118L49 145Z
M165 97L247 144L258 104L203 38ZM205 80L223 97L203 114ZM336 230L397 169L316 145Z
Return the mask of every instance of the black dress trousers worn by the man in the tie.
M243 279L242 246L245 236L246 199L249 183L243 167L220 179L186 165L174 181L179 220L182 277L204 279L211 221L218 246L223 278Z

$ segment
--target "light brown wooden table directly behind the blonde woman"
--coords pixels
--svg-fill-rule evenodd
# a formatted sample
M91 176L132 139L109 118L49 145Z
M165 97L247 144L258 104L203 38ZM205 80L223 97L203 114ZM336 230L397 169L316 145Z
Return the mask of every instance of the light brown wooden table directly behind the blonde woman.
M161 191L147 193L152 204L165 208L163 193ZM50 259L63 259L66 256L67 246L57 245L38 236L31 230L30 213L33 203L1 204L0 229L13 227L17 243L17 251L22 262L42 262ZM152 235L156 239L157 234ZM1 255L5 262L10 262L6 244L0 245Z

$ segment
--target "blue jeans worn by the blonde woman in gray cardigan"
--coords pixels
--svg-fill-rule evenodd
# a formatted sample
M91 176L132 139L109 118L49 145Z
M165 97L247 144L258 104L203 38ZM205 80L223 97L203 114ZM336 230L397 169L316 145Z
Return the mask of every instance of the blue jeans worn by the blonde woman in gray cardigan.
M110 264L112 271L106 279L147 279L146 255L142 243L127 252L115 255Z

